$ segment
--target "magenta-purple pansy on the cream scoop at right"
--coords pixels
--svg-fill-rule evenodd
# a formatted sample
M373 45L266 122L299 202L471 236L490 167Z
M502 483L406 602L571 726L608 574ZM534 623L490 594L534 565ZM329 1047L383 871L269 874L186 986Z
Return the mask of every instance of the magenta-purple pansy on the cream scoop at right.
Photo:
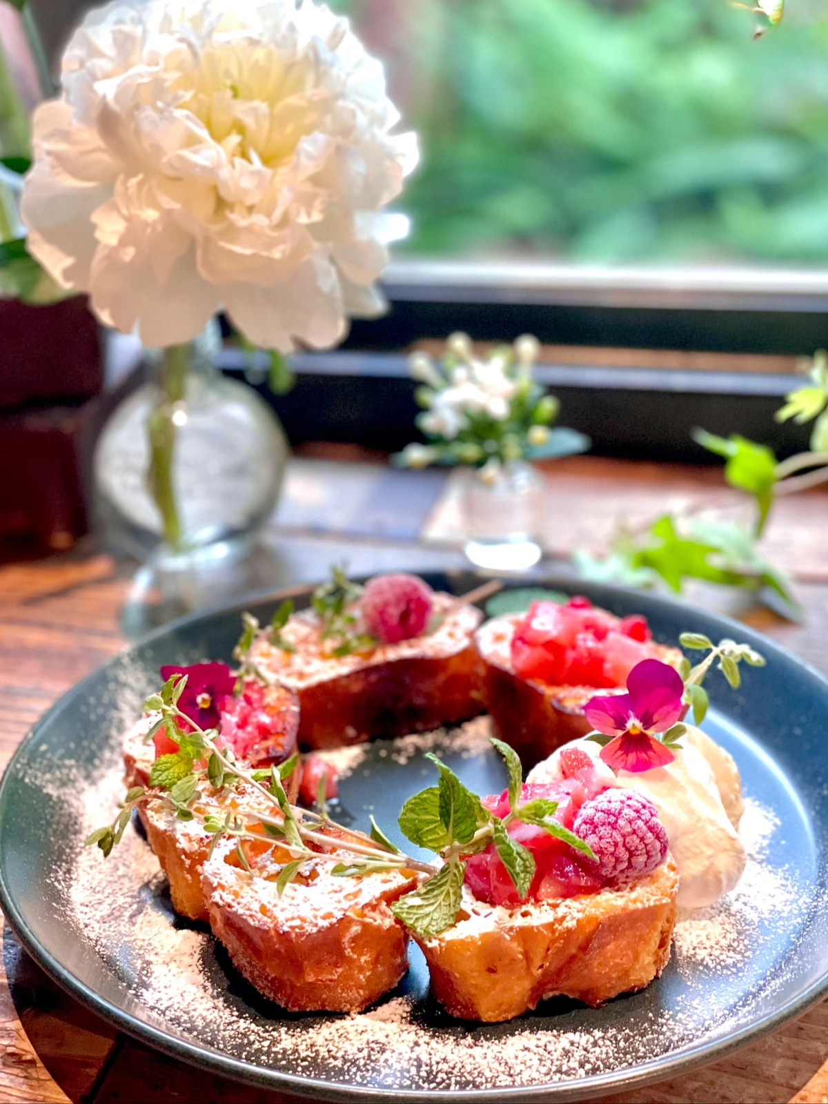
M593 698L586 719L605 736L615 736L601 749L601 758L614 771L634 774L666 766L675 753L656 740L681 718L684 683L668 664L645 659L627 676L627 693Z

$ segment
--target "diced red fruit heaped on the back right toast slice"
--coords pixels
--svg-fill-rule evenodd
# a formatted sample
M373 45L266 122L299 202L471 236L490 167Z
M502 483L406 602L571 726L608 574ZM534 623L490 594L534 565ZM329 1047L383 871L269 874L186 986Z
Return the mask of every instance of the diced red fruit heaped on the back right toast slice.
M652 656L650 639L637 614L618 619L583 597L533 602L514 629L511 660L522 678L550 686L619 687Z

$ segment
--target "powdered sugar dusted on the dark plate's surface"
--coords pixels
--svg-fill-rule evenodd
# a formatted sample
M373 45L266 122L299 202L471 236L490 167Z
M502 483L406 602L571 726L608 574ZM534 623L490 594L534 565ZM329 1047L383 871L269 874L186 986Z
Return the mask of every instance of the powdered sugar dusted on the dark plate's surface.
M426 750L491 754L488 719L454 732L346 749L350 758L342 752L326 755L342 756L338 768L347 776L349 766L353 771L367 757L376 768L382 751L405 764ZM117 761L93 785L83 782L73 790L76 843L53 877L67 901L68 922L120 980L136 1015L246 1063L338 1084L497 1089L634 1066L742 1022L752 987L761 987L778 966L766 957L774 938L789 933L795 940L803 923L795 879L768 859L778 821L749 800L742 882L718 905L680 916L664 977L629 1000L597 1010L553 1000L511 1023L459 1023L428 998L425 966L413 947L406 981L367 1012L291 1016L238 977L205 925L174 915L158 861L134 827L107 860L96 848L81 846L88 831L115 815L123 794Z

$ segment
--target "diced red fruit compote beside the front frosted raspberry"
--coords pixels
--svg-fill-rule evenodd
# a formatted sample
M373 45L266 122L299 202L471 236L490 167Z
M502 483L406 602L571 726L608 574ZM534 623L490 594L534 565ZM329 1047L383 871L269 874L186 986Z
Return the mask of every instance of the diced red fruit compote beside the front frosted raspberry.
M606 789L601 772L585 752L580 752L586 763L580 763L573 777L562 782L523 784L520 804L545 798L558 802L554 818L572 830L582 805ZM573 763L574 768L574 763ZM509 815L509 793L485 797L482 804L497 817ZM551 836L538 825L512 820L507 831L528 848L534 858L535 869L527 901L548 901L553 898L578 896L597 893L604 885L597 864L563 840ZM466 860L466 884L480 901L496 905L520 904L518 891L509 877L493 843L485 851Z

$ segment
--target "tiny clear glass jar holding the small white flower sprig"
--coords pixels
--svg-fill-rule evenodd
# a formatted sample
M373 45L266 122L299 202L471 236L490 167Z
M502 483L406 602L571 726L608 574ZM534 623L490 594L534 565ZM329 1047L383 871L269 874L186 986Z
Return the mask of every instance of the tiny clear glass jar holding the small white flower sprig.
M490 571L526 571L541 558L543 480L526 460L470 469L463 495L468 559Z

